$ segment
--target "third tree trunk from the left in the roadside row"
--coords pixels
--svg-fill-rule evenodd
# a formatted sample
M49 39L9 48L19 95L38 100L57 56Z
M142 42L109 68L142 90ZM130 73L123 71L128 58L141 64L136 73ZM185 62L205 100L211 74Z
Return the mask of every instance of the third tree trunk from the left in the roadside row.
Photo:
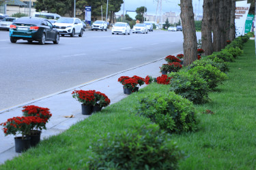
M213 0L213 5L212 5L212 18L213 18L213 27L212 27L212 32L214 35L213 38L213 47L214 47L214 52L219 52L221 51L221 31L219 29L219 0Z

